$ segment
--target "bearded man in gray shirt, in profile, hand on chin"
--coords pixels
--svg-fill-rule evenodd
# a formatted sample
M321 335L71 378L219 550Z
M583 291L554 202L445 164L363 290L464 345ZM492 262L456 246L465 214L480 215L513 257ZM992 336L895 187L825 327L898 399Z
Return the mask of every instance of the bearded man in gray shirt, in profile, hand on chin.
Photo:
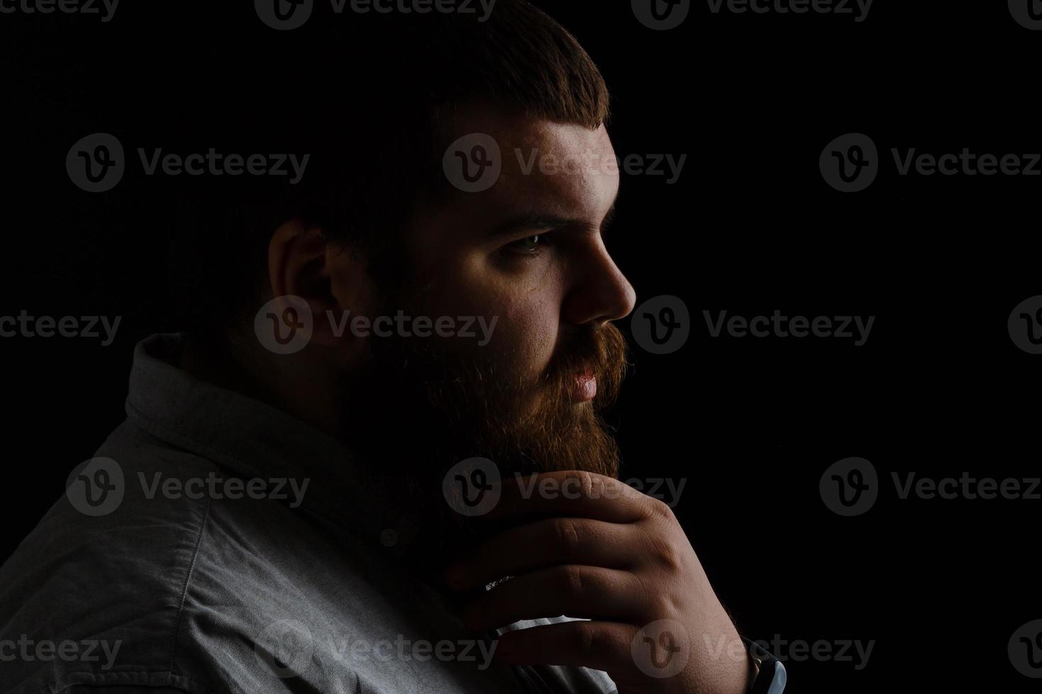
M596 67L521 0L325 21L164 83L169 149L299 180L162 190L181 330L0 570L3 690L750 691L672 512L617 480Z

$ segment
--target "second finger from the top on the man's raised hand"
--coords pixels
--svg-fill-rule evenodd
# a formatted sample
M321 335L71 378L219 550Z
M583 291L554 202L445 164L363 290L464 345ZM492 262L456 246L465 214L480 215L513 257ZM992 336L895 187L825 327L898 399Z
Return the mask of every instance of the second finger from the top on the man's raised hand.
M448 567L450 588L468 590L490 581L559 564L634 567L632 525L589 518L547 518L518 525L482 542Z

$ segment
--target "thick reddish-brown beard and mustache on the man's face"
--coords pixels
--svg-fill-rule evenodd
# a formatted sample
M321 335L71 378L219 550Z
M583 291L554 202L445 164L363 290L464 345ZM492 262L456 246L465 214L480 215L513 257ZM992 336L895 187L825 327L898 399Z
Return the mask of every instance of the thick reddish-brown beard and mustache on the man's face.
M400 294L390 303L428 314L406 310L415 302ZM366 363L337 384L341 430L402 515L419 521L428 549L458 548L496 530L443 496L446 473L463 460L491 460L503 480L555 470L618 478L620 452L602 412L618 396L627 348L611 323L574 327L538 376L495 334L485 346L461 337L369 339ZM578 402L584 374L595 376L597 392Z

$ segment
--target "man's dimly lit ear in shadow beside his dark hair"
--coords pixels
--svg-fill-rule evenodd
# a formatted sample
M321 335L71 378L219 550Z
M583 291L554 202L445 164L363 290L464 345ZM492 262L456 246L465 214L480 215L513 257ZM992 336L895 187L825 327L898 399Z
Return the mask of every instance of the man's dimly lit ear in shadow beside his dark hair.
M370 299L364 259L300 220L290 220L272 234L268 277L273 297L299 297L311 307L313 344L350 340L349 318Z

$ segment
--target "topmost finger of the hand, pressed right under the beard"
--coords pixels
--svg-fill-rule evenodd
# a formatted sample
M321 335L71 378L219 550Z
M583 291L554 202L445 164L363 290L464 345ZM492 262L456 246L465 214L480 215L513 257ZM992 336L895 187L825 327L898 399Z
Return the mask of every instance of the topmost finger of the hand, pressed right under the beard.
M629 523L651 515L656 499L614 478L582 470L507 478L489 520L573 516Z

